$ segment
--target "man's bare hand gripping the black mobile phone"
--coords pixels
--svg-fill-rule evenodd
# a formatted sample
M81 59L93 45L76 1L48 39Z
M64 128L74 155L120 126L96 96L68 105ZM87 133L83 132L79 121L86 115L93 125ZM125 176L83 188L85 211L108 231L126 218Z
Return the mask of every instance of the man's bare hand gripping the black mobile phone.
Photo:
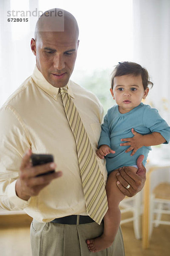
M15 186L17 196L23 200L38 195L52 180L62 176L61 171L54 172L56 168L54 162L32 166L31 154L31 150L28 149L21 162L20 176ZM48 174L48 172L50 173Z

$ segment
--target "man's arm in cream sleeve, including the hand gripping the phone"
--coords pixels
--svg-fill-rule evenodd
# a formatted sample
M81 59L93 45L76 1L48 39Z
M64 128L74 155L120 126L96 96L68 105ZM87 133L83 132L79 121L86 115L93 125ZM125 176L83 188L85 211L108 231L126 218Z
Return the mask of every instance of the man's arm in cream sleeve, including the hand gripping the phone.
M29 166L31 151L24 155L27 148L31 147L29 134L22 119L11 106L0 110L0 124L0 208L22 210L28 206L30 196L40 192L46 181L48 184L59 173L54 173L47 180L45 177L44 183L43 177L40 180L39 177L34 177L36 173L45 172L45 169L50 170L51 167L46 165L40 170L39 166Z

